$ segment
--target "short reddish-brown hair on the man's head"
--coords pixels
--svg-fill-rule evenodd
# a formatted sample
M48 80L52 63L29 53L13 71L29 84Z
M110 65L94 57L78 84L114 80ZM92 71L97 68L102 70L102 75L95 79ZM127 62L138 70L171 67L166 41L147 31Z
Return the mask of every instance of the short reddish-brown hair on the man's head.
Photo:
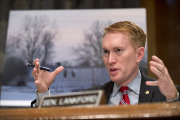
M130 40L135 44L136 47L144 47L146 42L146 34L144 31L135 23L129 21L121 21L114 23L105 28L104 36L107 33L113 32L124 32L129 35Z

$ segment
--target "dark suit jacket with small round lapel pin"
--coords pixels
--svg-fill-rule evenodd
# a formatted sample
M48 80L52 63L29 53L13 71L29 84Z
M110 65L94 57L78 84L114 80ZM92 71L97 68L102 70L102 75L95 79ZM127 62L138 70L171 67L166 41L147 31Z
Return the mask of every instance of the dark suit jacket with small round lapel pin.
M161 94L159 88L157 86L147 86L145 84L146 81L154 81L154 79L147 77L145 74L141 74L141 86L140 86L140 95L139 95L139 103L146 102L162 102L166 101L164 95ZM106 83L102 89L104 90L106 103L108 103L110 95L113 91L114 82ZM168 89L168 88L167 88ZM180 89L178 88L178 91Z

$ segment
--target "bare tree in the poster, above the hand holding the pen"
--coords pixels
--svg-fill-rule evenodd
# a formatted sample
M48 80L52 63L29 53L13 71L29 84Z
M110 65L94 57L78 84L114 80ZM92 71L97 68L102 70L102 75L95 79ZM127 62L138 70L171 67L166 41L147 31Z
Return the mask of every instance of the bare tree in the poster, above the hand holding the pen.
M34 58L40 58L41 64L48 64L55 37L55 32L48 29L48 23L45 16L26 16L21 33L9 38L14 39L14 47L11 47L10 51L18 48L17 53L23 56L26 62L32 63Z

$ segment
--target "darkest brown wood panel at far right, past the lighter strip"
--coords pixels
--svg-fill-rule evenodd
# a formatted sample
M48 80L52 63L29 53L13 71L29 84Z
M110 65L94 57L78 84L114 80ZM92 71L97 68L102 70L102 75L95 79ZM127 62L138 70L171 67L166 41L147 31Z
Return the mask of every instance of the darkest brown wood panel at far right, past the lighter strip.
M180 1L156 0L156 54L166 64L174 82L180 85Z

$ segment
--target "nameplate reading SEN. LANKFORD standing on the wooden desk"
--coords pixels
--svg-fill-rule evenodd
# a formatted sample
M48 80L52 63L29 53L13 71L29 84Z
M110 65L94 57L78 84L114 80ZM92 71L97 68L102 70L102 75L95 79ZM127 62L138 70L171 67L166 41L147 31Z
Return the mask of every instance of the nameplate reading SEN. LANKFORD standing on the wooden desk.
M39 107L98 106L100 104L105 104L103 91L95 90L44 96L40 101Z

